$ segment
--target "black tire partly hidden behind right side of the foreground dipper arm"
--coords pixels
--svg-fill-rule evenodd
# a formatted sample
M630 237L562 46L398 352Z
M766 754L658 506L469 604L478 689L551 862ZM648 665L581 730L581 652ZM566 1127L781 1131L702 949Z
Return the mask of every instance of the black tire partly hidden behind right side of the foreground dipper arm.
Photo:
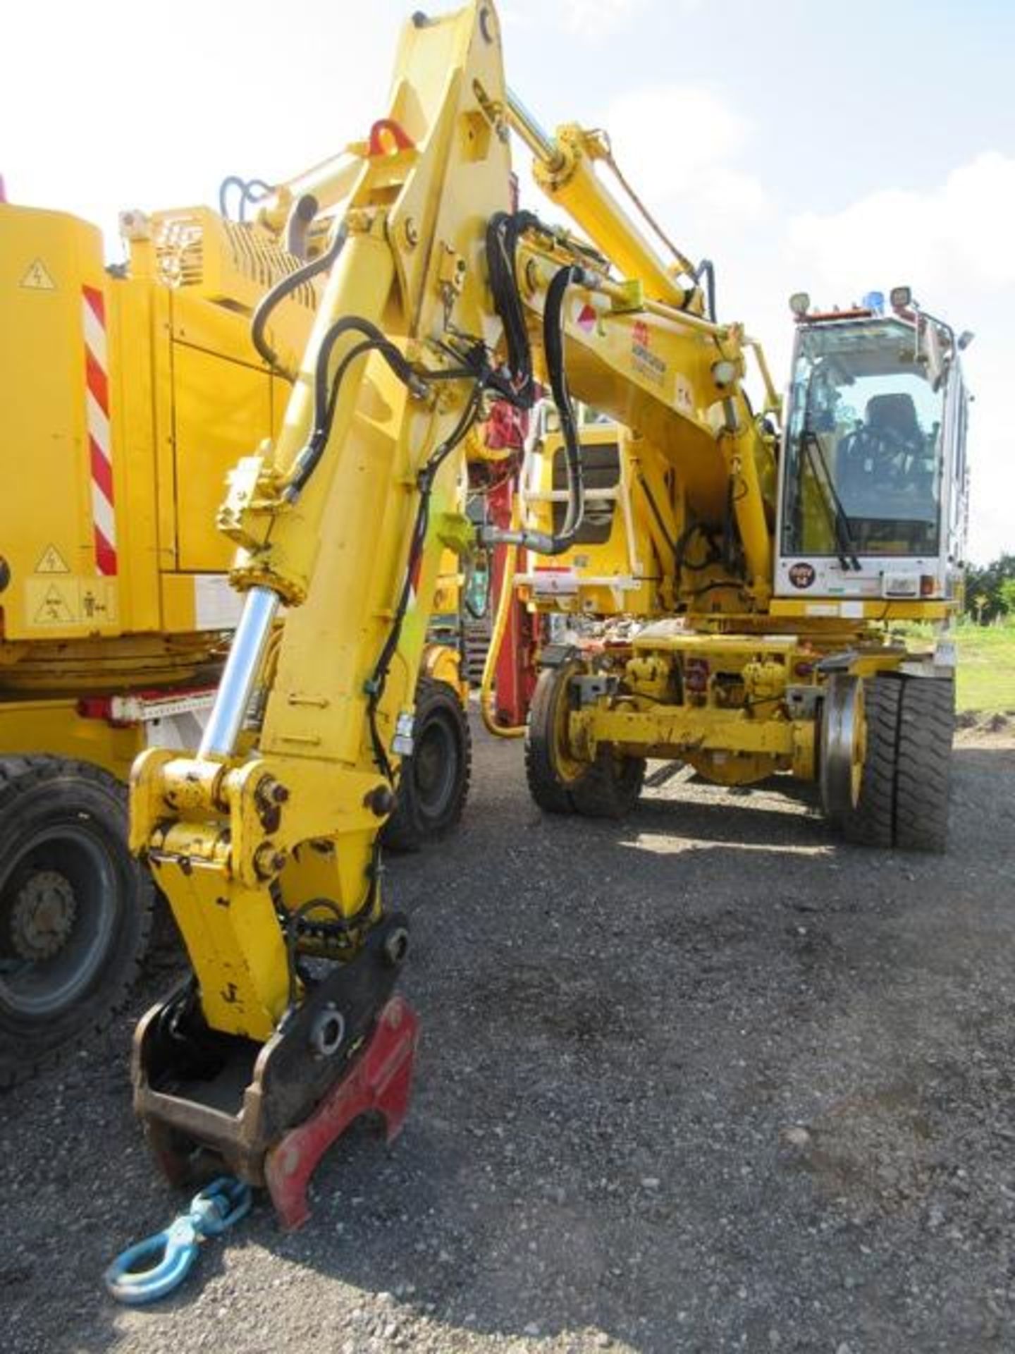
M402 760L398 795L382 841L390 850L421 850L457 827L472 774L468 716L455 688L433 677L415 686L413 754ZM434 783L434 776L438 780Z

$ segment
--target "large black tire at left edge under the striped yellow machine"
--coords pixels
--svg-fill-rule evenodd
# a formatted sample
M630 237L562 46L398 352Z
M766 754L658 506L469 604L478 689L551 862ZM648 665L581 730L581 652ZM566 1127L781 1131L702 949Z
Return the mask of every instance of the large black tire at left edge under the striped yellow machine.
M73 914L53 955L28 961L16 904L41 872L64 880ZM114 776L61 757L0 758L0 1087L78 1047L123 1006L153 899L127 850L127 795Z

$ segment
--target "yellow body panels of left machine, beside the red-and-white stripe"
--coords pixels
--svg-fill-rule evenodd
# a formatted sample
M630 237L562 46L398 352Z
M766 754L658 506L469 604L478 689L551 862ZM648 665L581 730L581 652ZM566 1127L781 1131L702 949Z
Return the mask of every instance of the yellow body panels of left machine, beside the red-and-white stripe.
M235 607L214 508L240 448L272 436L284 406L286 383L250 344L249 306L272 267L295 267L248 236L203 209L135 215L130 265L107 272L93 226L0 204L0 695L189 681L215 661ZM302 348L313 301L281 307L281 347ZM114 573L96 559L87 325L108 383Z

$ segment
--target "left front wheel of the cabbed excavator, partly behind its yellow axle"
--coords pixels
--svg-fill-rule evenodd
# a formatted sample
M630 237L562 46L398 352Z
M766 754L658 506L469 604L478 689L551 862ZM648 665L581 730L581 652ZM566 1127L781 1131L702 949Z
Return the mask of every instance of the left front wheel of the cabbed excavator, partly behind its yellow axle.
M560 701L581 663L547 668L536 682L525 733L525 774L529 793L547 814L583 818L623 818L637 803L646 777L643 757L620 757L600 747L595 761L571 779L560 774L556 758Z

